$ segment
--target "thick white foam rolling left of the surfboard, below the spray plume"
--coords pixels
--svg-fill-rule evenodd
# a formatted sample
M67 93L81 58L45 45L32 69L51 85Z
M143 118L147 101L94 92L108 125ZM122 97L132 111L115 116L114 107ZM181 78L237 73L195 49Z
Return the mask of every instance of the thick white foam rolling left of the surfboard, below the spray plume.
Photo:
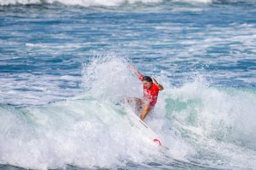
M157 145L142 138L123 112L94 100L0 108L0 163L109 168L157 157Z

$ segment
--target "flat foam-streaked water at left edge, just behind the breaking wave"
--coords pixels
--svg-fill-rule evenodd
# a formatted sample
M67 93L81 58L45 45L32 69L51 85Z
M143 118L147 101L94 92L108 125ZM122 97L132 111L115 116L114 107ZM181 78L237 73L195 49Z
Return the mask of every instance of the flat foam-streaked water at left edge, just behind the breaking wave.
M17 105L38 105L74 97L82 90L62 88L61 85L76 86L81 78L63 75L34 75L29 73L12 74L1 78L0 103ZM63 80L68 82L63 83Z

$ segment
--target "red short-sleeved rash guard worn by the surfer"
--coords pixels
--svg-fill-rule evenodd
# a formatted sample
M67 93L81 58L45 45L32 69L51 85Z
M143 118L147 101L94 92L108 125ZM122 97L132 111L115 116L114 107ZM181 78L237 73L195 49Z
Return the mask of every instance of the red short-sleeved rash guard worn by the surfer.
M139 79L143 81L143 75L139 76ZM159 87L155 85L154 83L147 89L143 85L143 93L144 93L144 99L149 101L149 107L153 109L155 107L155 103L157 101L158 93L159 93Z

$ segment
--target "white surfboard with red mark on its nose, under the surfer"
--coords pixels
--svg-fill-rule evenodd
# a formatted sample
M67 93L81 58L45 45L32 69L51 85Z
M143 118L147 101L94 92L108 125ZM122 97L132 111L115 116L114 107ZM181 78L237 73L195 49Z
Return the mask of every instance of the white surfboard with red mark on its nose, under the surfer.
M137 117L137 115L133 111L128 110L127 115L131 122L131 126L136 127L137 130L143 134L143 136L149 138L149 140L151 140L155 144L159 144L160 146L162 146L162 142L160 138L158 138L156 133L152 131L149 126L146 125L145 122L143 122L143 120Z

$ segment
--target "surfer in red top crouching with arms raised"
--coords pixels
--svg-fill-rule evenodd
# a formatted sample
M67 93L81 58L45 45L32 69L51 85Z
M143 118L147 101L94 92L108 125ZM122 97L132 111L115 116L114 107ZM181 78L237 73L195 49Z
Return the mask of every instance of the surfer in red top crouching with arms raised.
M133 98L138 108L142 108L140 119L144 120L146 115L155 108L155 103L157 101L159 91L163 90L163 86L160 85L156 79L151 79L149 76L143 76L139 73L137 68L130 66L135 73L137 73L138 79L143 82L143 100L140 98ZM131 100L131 99L128 99ZM129 103L129 101L128 101Z

